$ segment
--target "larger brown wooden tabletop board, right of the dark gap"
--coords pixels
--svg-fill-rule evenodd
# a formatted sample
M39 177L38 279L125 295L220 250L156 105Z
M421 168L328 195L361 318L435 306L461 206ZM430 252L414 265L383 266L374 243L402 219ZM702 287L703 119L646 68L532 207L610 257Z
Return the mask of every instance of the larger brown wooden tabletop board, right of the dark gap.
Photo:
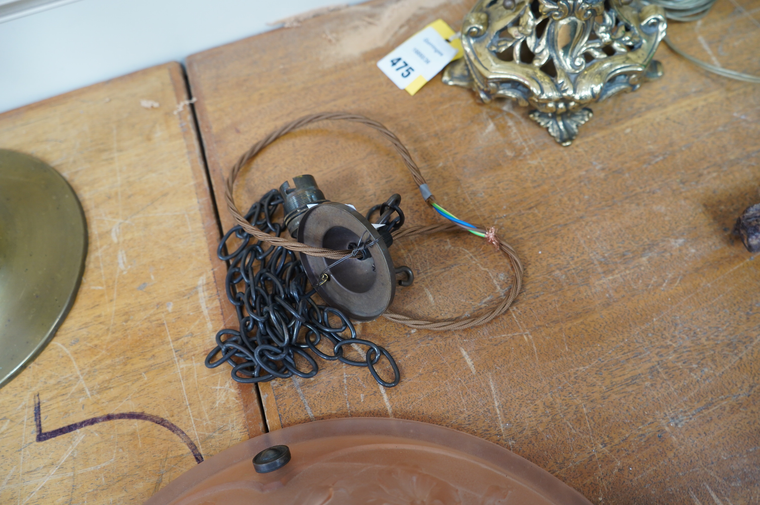
M760 88L662 46L665 76L595 104L565 148L513 103L480 105L439 78L408 96L375 67L438 17L458 28L471 4L378 0L188 58L217 201L229 167L264 134L307 113L359 112L401 137L448 210L495 225L526 267L518 303L486 326L359 325L401 366L391 390L332 362L312 380L261 385L269 428L410 418L501 443L594 503L757 502L760 264L730 228L760 200ZM758 9L718 2L670 33L699 57L702 40L725 67L760 74ZM362 210L398 192L407 223L439 222L391 147L356 125L278 140L236 201L302 173L331 200ZM228 228L223 207L220 217ZM397 241L391 254L416 273L394 301L405 314L480 310L513 278L464 235Z

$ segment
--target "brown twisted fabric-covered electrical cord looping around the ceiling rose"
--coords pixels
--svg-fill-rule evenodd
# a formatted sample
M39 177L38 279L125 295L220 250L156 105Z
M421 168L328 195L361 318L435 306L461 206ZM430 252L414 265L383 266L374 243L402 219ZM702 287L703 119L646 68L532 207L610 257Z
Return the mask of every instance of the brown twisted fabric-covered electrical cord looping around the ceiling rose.
M275 245L275 246L281 245L283 246L283 248L290 249L290 251L299 252L300 254L310 254L312 256L328 257L334 260L338 260L341 257L349 255L350 251L333 251L332 249L326 249L326 248L312 248L311 246L302 244L301 242L288 240L287 238L275 237L273 235L269 235L268 233L262 232L260 229L256 228L255 226L252 226L251 223L249 223L245 219L245 217L242 216L242 214L240 213L240 211L235 205L235 200L233 199L233 189L235 187L235 180L240 174L240 171L252 159L254 159L255 156L258 153L260 153L262 149L264 149L264 147L267 147L269 144L274 142L274 140L277 140L278 138L282 137L284 134L289 133L290 131L297 130L298 128L302 128L306 125L310 125L315 122L325 121L327 119L331 121L338 121L338 120L350 121L350 122L360 123L362 125L367 125L371 128L375 128L375 130L377 130L383 137L388 139L388 141L390 141L391 144L393 144L393 147L396 148L398 153L401 155L401 158L404 159L404 164L406 164L407 169L409 169L409 172L411 172L412 178L414 179L415 184L417 186L426 184L425 178L423 178L423 175L420 172L420 169L416 166L416 163L414 163L414 160L412 159L412 156L410 155L409 150L407 150L407 148L404 147L404 144L401 144L401 140L398 140L398 137L396 137L393 134L393 132L388 130L388 128L385 128L385 126L383 126L381 123L373 121L370 118L366 118L363 115L350 114L348 112L320 112L318 114L305 115L302 118L298 118L293 122L287 123L287 125L281 126L277 130L272 131L263 139L259 140L256 144L253 145L253 147L251 147L247 152L245 152L242 156L240 156L240 159L238 160L238 162L235 163L232 169L230 169L230 176L227 178L226 186L224 188L224 200L226 200L227 210L230 211L230 215L233 216L233 220L235 221L235 223L239 225L242 229L244 229L245 232L249 233L250 235L253 235L255 238L268 242L271 245ZM427 199L428 204L432 205L434 202L435 202L435 197L433 197L432 195L428 197ZM467 229L464 227L460 227L453 223L446 223L446 224L431 225L431 226L407 227L406 229L402 229L402 230L398 230L397 232L394 232L393 238L394 239L404 238L404 237L409 237L413 235L429 235L431 233L437 233L437 232L453 232L458 229L461 231L467 232ZM448 319L448 320L441 320L441 321L413 319L412 317L404 316L403 314L396 314L391 311L385 311L385 314L383 314L383 316L387 317L389 320L392 320L396 323L405 324L409 327L418 328L420 330L442 331L442 330L464 330L465 328L479 326L480 324L488 323L494 317L504 314L509 308L509 306L512 304L512 302L515 301L515 298L517 298L517 295L520 292L520 289L522 287L522 277L523 277L522 264L520 263L520 259L518 258L517 253L511 247L511 245L508 245L505 241L499 238L499 236L496 235L493 229L486 230L486 229L478 228L475 231L486 233L486 235L489 235L489 238L487 238L487 241L489 241L493 245L496 245L496 247L499 248L500 251L502 251L504 254L507 255L509 263L511 264L512 270L515 271L515 282L512 283L512 286L511 286L511 289L509 290L508 295L505 296L505 298L502 300L501 303L499 303L499 305L496 308L494 308L492 311L487 312L486 314L482 314L476 317Z

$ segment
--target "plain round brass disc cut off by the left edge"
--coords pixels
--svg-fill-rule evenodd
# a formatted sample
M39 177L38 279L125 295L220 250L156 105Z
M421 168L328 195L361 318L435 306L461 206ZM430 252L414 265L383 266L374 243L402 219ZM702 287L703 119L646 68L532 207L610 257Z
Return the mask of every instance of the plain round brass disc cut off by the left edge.
M65 178L40 159L0 150L0 387L55 335L86 255L84 211Z

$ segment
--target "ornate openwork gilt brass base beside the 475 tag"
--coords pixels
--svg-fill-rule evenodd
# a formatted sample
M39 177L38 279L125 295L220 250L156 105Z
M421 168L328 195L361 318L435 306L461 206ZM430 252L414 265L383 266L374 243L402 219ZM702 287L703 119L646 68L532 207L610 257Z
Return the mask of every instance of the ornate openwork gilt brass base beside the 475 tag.
M530 118L568 146L592 115L586 107L662 75L652 59L667 21L637 0L478 0L462 24L464 58L443 81L489 103L533 106Z

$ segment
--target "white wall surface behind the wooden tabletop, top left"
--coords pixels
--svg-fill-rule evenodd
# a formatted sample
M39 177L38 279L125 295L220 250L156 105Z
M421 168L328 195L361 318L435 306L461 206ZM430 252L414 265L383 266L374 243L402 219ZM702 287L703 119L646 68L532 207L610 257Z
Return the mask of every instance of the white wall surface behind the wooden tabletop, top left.
M80 0L18 17L0 23L0 112L182 61L272 30L268 23L338 2Z

